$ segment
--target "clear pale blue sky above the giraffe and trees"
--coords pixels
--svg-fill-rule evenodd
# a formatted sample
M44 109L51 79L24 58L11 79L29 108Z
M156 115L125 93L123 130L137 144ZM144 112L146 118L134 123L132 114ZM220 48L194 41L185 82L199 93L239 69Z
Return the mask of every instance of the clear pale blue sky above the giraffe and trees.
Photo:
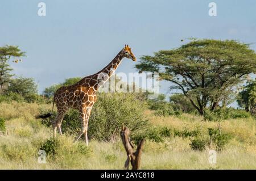
M46 16L38 16L38 3ZM209 3L217 16L209 16ZM177 48L188 37L235 39L256 50L256 1L170 0L2 0L0 46L19 45L27 52L14 73L32 77L39 92L65 78L84 77L107 65L123 48L137 58L161 49ZM118 72L135 72L123 60ZM161 83L166 92L167 82Z

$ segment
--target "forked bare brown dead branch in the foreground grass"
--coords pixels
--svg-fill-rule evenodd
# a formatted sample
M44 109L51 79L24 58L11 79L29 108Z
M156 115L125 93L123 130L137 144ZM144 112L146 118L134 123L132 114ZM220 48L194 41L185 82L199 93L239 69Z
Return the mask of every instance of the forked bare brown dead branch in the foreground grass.
M127 159L125 161L125 169L129 169L129 162L131 162L131 166L133 167L133 170L138 170L139 167L141 166L141 154L142 154L142 149L145 140L139 141L139 144L137 146L137 150L134 151L134 146L131 144L130 141L130 130L129 128L123 126L121 130L121 138L123 142L123 146L125 146L125 150L127 153Z

